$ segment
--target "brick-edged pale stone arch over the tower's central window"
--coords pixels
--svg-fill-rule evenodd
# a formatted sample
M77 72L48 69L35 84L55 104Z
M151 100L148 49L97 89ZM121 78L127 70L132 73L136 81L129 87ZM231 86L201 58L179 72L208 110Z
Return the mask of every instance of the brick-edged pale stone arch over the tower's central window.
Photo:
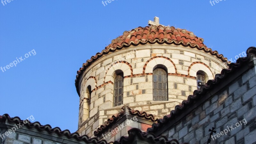
M164 65L167 68L168 73L177 74L177 68L174 62L170 58L167 58L164 56L155 56L147 60L147 62L143 67L142 74L145 75L145 74L153 73L153 68L158 64Z

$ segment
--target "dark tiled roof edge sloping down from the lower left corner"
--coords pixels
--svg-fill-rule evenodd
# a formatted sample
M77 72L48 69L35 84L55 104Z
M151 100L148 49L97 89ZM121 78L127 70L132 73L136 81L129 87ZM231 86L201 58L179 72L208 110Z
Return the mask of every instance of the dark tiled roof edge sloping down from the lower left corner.
M45 130L45 131L48 131L51 133L55 132L55 133L58 133L59 135L65 135L68 138L75 138L77 140L83 140L88 143L93 143L93 144L107 144L108 143L106 140L99 141L97 138L89 138L87 135L80 136L77 132L71 133L69 130L62 131L59 127L52 128L52 126L49 124L41 125L39 122L31 123L29 120L28 120L28 123L25 124L25 123L23 123L24 120L21 120L20 117L18 117L18 116L10 117L8 114L4 114L3 116L0 116L0 121L6 121L6 120L8 122L13 122L16 124L19 124L19 123L24 124L30 128L36 127L38 130L41 130L41 131Z

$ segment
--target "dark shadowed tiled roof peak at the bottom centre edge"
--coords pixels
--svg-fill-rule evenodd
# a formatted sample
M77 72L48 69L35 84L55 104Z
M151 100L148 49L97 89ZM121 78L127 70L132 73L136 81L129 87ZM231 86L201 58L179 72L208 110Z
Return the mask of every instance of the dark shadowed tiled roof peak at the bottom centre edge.
M119 141L115 141L114 144L125 144L125 143L131 143L134 140L135 136L139 136L140 139L143 140L149 140L154 143L165 143L165 144L180 144L178 140L168 140L166 136L159 136L156 137L153 133L148 133L145 135L145 132L141 132L138 128L132 128L128 131L129 136L125 137L122 136ZM187 143L184 143L187 144Z

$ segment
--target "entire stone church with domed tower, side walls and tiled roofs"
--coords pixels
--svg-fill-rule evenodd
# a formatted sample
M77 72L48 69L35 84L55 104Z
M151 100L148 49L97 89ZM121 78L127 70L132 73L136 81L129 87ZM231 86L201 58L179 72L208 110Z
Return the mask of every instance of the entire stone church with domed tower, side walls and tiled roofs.
M77 71L76 133L28 122L1 144L255 143L256 48L229 63L193 32L148 24ZM0 134L20 122L0 116Z

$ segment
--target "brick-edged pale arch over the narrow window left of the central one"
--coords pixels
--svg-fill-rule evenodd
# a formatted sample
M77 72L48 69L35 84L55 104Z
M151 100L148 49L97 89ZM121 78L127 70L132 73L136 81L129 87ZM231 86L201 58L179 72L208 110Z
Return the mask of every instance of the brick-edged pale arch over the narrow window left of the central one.
M133 76L132 66L129 62L117 61L114 64L112 64L111 67L106 72L106 75L104 77L104 83L108 83L108 82L114 83L116 70L122 70L124 73L124 77Z

